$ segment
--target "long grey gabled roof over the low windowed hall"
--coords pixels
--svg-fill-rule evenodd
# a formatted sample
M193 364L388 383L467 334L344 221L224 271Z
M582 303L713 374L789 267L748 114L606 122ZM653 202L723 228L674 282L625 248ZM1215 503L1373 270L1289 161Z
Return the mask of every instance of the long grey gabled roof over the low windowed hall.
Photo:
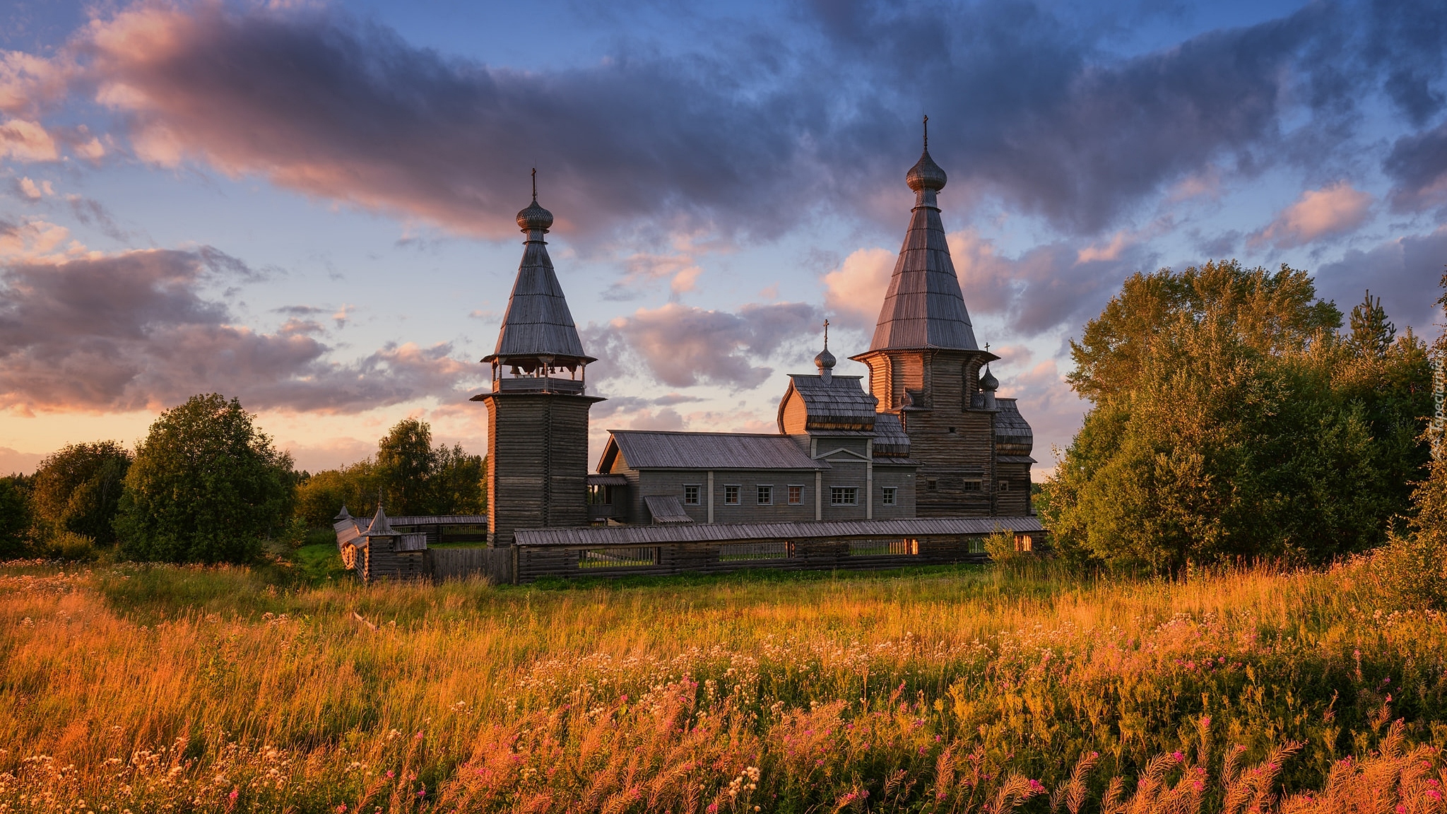
M608 446L598 463L612 468L622 453L634 469L828 469L825 461L809 458L783 435L676 433L657 430L609 430Z

